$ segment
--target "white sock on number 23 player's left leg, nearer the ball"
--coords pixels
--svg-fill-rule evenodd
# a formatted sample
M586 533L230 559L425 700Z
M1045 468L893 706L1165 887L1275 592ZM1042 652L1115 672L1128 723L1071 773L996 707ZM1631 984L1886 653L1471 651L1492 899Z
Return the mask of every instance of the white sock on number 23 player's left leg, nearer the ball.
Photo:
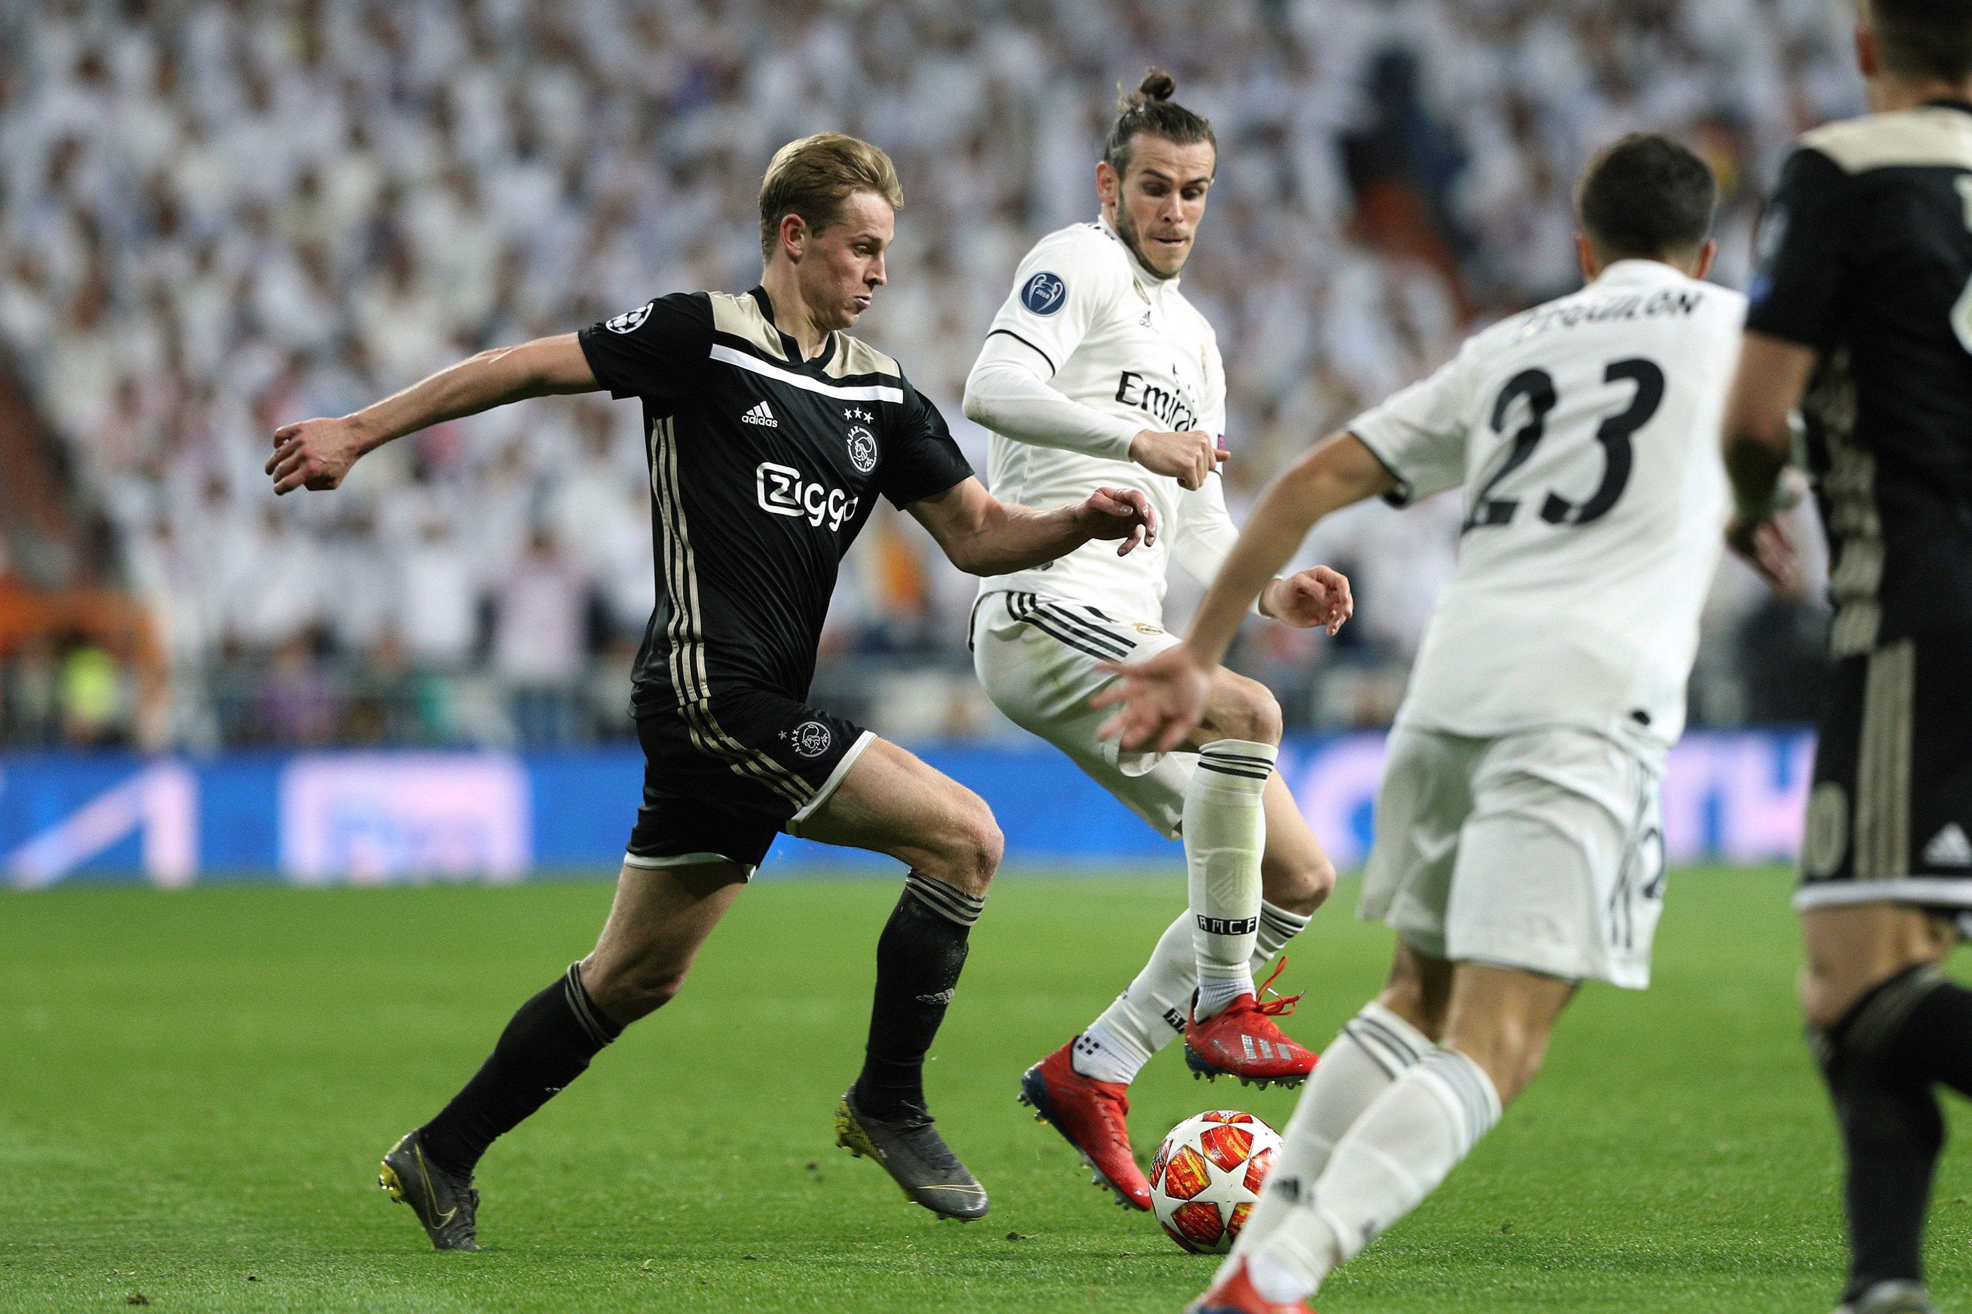
M1256 1249L1294 1205L1313 1198L1343 1132L1392 1081L1436 1050L1424 1032L1374 1000L1343 1024L1288 1119L1280 1154L1266 1174L1260 1204L1238 1233L1234 1255Z

